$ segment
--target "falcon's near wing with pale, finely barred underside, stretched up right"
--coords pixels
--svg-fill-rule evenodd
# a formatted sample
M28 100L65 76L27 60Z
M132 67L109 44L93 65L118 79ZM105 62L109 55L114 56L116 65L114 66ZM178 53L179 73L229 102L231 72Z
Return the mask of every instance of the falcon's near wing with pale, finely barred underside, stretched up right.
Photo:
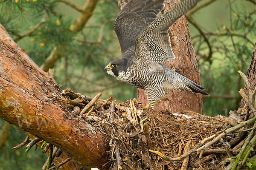
M194 7L199 0L184 0L162 16L154 20L136 40L136 51L133 60L135 65L147 65L160 63L174 59L169 27L175 21Z

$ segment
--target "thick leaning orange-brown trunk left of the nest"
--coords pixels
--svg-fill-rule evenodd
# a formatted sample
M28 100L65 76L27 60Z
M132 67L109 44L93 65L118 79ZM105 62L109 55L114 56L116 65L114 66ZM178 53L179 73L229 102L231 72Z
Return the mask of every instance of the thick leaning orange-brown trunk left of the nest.
M0 24L0 118L54 144L86 168L102 167L108 147L102 133L69 113L61 90ZM101 161L99 161L101 160Z

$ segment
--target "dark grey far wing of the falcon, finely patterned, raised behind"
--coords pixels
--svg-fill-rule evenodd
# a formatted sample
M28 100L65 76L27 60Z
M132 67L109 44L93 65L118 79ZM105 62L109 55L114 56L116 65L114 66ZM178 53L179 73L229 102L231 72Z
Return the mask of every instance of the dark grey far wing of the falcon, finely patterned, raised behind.
M134 46L137 37L152 23L163 9L164 0L131 0L119 12L114 23L121 52Z

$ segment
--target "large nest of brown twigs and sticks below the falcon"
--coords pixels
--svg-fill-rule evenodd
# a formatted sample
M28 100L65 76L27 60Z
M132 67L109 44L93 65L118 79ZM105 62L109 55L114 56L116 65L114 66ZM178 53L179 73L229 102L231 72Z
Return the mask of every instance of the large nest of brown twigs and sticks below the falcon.
M191 111L154 111L136 99L117 103L111 97L102 100L100 96L91 99L75 95L80 105L66 103L71 105L72 113L105 136L111 158L105 166L114 170L224 169L236 160L233 156L238 155L253 129L253 121L245 123L248 131L239 124L253 117L247 105L230 111L233 116L225 118ZM250 155L255 155L254 150Z

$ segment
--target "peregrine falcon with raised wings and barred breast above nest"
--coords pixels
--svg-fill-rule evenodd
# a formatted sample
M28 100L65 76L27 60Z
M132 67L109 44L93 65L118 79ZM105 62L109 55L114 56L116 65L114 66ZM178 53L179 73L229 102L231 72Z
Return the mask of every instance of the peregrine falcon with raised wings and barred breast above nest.
M205 88L161 64L175 58L169 27L199 0L183 0L161 14L163 1L131 0L122 8L114 23L121 59L105 67L113 77L145 90L152 108L173 89L208 95Z

